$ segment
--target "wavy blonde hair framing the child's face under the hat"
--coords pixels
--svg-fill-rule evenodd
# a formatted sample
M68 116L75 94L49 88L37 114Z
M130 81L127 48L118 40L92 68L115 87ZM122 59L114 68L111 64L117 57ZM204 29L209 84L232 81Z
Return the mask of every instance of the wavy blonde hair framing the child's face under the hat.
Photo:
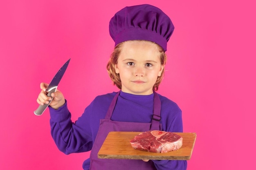
M132 41L146 41L146 40L132 40ZM113 84L116 85L119 89L122 88L122 84L121 84L121 79L120 79L119 74L117 74L115 72L115 64L117 64L118 56L121 53L121 47L122 47L123 43L124 42L121 42L121 43L117 44L117 46L115 46L115 49L112 52L112 54L110 55L110 59L107 64L108 75L109 75L110 79L112 80ZM152 42L152 43L156 44L155 42ZM157 80L153 86L154 91L158 90L158 86L160 85L160 83L162 82L162 80L164 78L164 66L166 64L166 58L167 58L166 54L164 53L163 48L161 46L159 46L158 44L156 44L156 45L157 45L157 49L160 52L159 59L160 59L161 65L163 66L163 70L162 70L161 75L159 77L157 77Z

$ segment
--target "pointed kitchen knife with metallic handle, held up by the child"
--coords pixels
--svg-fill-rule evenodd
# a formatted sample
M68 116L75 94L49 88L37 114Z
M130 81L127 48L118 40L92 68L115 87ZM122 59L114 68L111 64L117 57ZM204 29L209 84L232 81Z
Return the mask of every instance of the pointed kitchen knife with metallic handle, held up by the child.
M58 73L56 73L56 75L53 77L52 81L50 82L49 86L46 89L46 91L48 92L47 96L52 97L51 94L56 92L58 84L61 81L61 78L64 75L69 62L70 62L70 59L67 60L67 62L65 62L65 64L61 67L61 69L58 71ZM52 100L49 101L49 104L51 102L52 102ZM38 116L42 115L43 112L45 111L45 109L49 106L49 104L39 105L38 108L34 111L34 114L38 115Z

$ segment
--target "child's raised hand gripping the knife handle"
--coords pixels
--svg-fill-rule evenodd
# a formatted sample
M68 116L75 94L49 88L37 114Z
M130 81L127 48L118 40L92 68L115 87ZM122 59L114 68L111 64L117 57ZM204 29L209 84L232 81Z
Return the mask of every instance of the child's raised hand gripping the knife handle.
M63 106L65 104L65 98L61 91L56 90L56 92L52 93L51 97L47 96L46 88L49 86L47 83L40 83L41 92L38 95L38 98L36 99L36 102L40 105L49 104L49 102L52 100L52 102L49 104L54 109L58 109L59 107Z

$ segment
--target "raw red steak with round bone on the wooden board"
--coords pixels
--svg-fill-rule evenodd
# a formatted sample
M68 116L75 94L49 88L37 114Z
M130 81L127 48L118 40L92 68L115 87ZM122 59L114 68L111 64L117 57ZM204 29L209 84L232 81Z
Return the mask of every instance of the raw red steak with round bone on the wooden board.
M130 141L132 148L155 153L178 150L182 146L182 137L172 132L149 130L135 136Z

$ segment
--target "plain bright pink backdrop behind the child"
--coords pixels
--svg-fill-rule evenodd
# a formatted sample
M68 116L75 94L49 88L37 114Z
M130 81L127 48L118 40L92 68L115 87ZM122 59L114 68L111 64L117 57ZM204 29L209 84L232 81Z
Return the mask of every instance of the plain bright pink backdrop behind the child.
M34 115L40 82L71 57L59 89L75 121L97 95L117 91L106 71L110 18L149 3L175 25L158 93L183 113L197 140L188 170L255 166L255 4L251 0L1 0L0 169L82 170L89 152L64 155L49 111Z

